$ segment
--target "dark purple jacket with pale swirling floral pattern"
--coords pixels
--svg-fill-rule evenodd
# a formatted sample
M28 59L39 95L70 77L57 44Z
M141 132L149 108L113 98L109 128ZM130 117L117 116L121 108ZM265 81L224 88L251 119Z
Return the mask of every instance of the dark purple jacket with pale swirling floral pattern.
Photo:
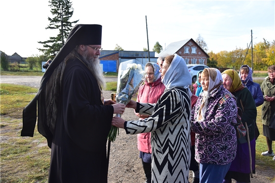
M199 163L226 165L235 159L237 151L236 124L237 105L233 97L218 107L219 101L229 91L222 85L210 94L204 121L197 121L203 95L191 110L191 130L196 133L195 159Z

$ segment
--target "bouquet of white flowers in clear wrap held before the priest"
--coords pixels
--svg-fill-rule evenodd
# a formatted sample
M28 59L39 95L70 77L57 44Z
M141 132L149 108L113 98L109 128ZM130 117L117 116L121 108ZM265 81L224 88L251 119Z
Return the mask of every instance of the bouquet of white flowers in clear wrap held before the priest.
M143 83L144 76L145 72L142 69L142 65L129 62L121 63L118 72L117 103L127 105L139 90L140 85ZM120 114L116 116L120 117ZM112 126L108 134L108 140L114 142L118 133L119 128Z

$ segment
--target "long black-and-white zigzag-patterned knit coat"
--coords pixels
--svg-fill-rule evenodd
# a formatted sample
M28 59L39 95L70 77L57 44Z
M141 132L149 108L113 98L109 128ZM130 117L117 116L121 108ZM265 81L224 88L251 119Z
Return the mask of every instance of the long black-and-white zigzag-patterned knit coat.
M125 121L127 134L152 132L152 182L188 182L190 105L187 89L172 87L156 104L137 103L149 118Z

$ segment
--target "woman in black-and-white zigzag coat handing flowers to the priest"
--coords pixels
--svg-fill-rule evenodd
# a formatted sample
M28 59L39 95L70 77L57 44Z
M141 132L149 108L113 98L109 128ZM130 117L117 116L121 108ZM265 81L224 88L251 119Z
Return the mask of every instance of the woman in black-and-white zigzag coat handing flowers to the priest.
M152 182L188 182L191 76L177 54L165 58L160 73L166 90L156 104L131 100L126 106L150 117L136 121L113 117L112 125L127 134L152 132Z

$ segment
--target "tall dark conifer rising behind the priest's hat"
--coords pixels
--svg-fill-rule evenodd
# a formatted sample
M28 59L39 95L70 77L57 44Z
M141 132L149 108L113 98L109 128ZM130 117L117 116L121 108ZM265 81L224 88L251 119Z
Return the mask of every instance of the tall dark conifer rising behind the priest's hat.
M47 41L39 41L44 48L39 51L43 52L44 55L51 56L52 58L57 55L59 50L65 44L65 39L68 37L69 32L73 27L73 23L76 21L69 21L73 15L72 3L70 0L50 0L51 14L53 18L48 17L49 25L46 29L58 29L59 34L56 37L49 37Z

